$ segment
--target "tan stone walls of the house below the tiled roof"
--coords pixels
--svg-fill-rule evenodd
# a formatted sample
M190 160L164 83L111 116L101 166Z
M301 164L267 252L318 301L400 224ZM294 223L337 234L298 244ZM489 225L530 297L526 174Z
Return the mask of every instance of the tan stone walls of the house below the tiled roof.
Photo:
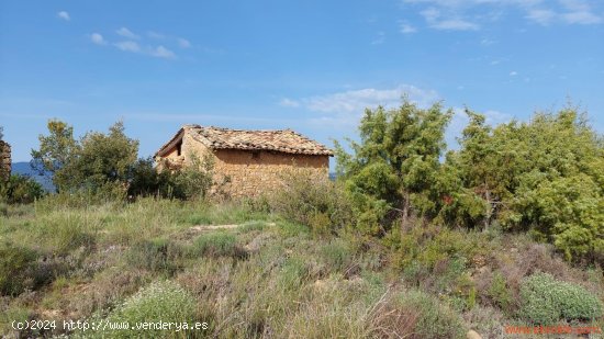
M177 149L180 147L180 151ZM270 150L211 150L193 135L184 132L182 144L178 145L163 159L168 169L190 165L190 156L203 158L208 155L214 159L213 193L225 193L233 197L270 194L282 187L283 177L289 172L303 170L304 176L328 178L329 157L294 155ZM158 159L158 163L161 163ZM166 166L161 165L160 170Z

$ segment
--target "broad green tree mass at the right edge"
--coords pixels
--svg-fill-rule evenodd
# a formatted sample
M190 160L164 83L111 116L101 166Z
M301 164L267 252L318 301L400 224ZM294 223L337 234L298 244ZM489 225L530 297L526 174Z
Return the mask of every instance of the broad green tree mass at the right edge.
M482 201L474 214L549 241L567 259L604 259L604 144L577 108L491 128L471 113L461 148L447 157L461 190ZM480 208L479 208L480 210ZM470 219L463 208L459 219Z

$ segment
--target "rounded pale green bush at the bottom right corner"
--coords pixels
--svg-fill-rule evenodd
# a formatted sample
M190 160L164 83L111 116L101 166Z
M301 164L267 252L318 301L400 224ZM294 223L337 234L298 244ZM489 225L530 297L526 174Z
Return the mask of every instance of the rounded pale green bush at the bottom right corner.
M547 273L525 279L521 300L518 317L535 324L552 324L559 319L591 320L602 316L602 302L595 295Z

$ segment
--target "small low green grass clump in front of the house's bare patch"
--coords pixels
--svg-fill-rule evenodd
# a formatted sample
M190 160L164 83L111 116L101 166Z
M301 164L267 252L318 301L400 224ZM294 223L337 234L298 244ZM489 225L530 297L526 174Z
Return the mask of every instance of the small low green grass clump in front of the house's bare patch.
M193 255L210 257L245 257L245 250L237 245L237 238L225 231L208 233L193 241Z

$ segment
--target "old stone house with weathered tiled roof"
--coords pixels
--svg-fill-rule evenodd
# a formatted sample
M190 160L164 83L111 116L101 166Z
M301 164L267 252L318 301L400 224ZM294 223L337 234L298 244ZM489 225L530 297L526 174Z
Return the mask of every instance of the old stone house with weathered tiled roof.
M231 196L270 193L283 173L328 178L333 151L292 129L248 131L184 125L155 154L158 170L178 170L191 157L214 161L213 181Z

